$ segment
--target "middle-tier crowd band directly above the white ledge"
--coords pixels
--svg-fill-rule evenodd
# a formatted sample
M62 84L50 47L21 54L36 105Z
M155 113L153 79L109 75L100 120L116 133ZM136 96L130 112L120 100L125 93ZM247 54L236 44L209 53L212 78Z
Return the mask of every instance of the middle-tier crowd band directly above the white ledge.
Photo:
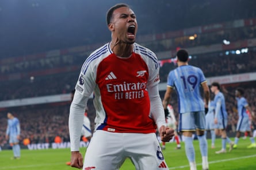
M239 55L226 55L224 52L199 54L192 56L189 64L200 67L206 77L255 72L256 51L251 49ZM174 62L163 64L160 69L161 82L166 82L167 74L174 68ZM79 69L77 72L35 77L33 80L1 82L0 101L69 93L74 88L78 73Z

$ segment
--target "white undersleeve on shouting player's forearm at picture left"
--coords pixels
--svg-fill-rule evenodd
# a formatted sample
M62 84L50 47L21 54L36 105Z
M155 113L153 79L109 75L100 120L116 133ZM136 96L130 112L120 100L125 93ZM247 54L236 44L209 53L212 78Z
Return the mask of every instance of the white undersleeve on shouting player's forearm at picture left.
M88 99L89 97L85 97L81 93L75 91L74 98L70 106L70 116L68 119L71 151L79 151L80 148L83 115L85 113Z

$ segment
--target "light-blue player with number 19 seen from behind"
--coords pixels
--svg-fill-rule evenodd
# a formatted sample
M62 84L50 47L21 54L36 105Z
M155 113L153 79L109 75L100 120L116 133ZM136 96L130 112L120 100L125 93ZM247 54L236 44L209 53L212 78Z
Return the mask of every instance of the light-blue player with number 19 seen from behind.
M167 78L167 88L163 107L166 109L175 88L179 106L179 132L184 135L186 156L190 170L196 170L196 159L193 146L193 132L196 131L200 143L202 169L209 169L207 139L205 130L204 101L200 94L200 86L204 91L206 104L209 101L209 88L204 73L200 68L188 65L189 54L181 49L177 52L178 68L172 70Z

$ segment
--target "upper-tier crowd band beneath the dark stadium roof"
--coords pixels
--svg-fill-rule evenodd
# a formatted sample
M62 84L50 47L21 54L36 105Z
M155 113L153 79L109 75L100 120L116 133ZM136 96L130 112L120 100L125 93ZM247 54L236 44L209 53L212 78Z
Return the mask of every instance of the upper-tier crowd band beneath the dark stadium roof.
M163 52L166 50L175 50L176 47L190 48L193 46L221 44L226 39L230 42L236 42L243 39L256 37L256 26L240 27L238 29L221 30L212 33L197 34L192 41L188 36L175 37L171 39L162 39L159 41L142 42L154 52ZM140 42L139 42L140 43ZM63 54L55 57L41 58L30 61L20 61L13 64L1 65L0 72L3 74L12 73L29 73L34 70L47 70L52 68L63 68L67 66L75 66L80 68L81 63L85 60L90 51L85 53ZM22 58L22 57L21 57Z

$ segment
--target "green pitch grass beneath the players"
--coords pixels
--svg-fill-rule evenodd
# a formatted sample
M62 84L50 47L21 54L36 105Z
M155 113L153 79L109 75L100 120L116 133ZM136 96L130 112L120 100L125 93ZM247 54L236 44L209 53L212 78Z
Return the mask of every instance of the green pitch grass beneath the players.
M234 139L233 139L234 140ZM182 149L175 150L175 143L167 143L166 150L163 151L165 160L169 169L189 169L188 160L186 159L184 143ZM208 140L208 156L209 156L209 169L221 169L221 170L255 170L256 169L256 148L247 149L247 145L250 144L250 140L247 138L239 140L237 149L232 152L217 155L215 151L218 151L221 147L221 140L216 140L216 148L211 149L211 141ZM196 151L197 169L201 170L201 156L198 145L198 140L194 140L194 147ZM85 148L81 149L82 154L85 153ZM34 150L29 151L27 149L21 150L20 160L11 160L13 156L12 151L0 152L0 170L7 169L19 169L19 170L55 170L55 169L75 169L67 166L65 163L70 160L69 149L47 149L47 150ZM131 161L127 159L122 165L120 170L134 170ZM106 169L108 170L108 169Z

